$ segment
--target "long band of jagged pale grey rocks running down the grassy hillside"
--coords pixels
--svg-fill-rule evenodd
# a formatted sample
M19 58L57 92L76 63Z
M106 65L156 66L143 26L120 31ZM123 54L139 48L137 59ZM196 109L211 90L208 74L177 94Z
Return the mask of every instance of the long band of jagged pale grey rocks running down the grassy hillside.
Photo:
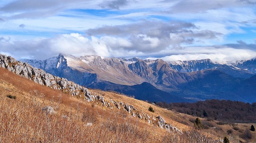
M136 109L132 105L126 104L124 102L116 101L113 99L105 100L104 96L91 93L85 87L68 81L66 78L60 78L51 75L41 69L34 68L27 63L16 61L10 56L0 54L0 67L6 68L11 72L20 75L21 77L33 80L40 85L51 87L55 90L62 90L65 93L71 94L75 97L83 98L88 102L96 102L97 104L101 104L102 106L109 109L116 108L119 110L127 111L131 116L138 117L139 119L142 119L149 124L157 124L160 128L167 129L168 131L177 131L182 133L175 126L166 123L166 121L161 116L155 117L154 115L145 114L142 110ZM45 107L45 109L42 110L46 110L47 112L54 112L48 107Z

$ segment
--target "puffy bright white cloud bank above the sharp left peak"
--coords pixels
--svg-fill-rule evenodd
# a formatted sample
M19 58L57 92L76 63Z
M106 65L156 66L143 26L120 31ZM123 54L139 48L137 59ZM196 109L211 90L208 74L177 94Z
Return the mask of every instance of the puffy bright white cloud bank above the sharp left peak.
M12 43L7 42L7 39L3 37L0 39L1 52L12 53L18 60L22 58L45 60L45 58L56 56L59 53L103 57L135 55L137 52L125 49L130 46L130 41L123 38L107 36L88 38L78 33L61 34L48 39L13 41Z

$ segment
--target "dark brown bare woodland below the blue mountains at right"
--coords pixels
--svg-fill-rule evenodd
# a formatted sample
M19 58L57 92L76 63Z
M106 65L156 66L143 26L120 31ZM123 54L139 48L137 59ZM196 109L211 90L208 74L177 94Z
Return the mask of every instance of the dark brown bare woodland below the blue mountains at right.
M231 100L205 100L195 103L156 102L157 106L197 117L212 118L233 123L256 123L256 102L244 103Z

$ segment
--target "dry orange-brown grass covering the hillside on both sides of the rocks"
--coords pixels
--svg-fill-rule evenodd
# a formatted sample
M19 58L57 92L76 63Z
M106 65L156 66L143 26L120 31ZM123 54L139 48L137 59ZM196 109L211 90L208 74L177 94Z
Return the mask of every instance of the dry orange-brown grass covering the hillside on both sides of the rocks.
M168 111L129 97L92 90L142 109L147 114L161 115L166 122L180 128L183 133L166 131L143 120L131 117L126 111L106 109L95 102L86 102L61 91L36 84L0 68L0 142L166 142L166 143L216 143L223 139L212 127L191 128L192 116ZM16 99L7 97L15 96ZM54 107L54 114L42 111L43 106ZM152 106L155 112L148 109ZM223 131L234 131L228 136L233 142L235 133L243 135L247 126L223 126ZM92 123L88 124L88 123ZM237 130L235 130L237 129ZM206 133L206 131L208 133ZM255 134L253 134L255 135ZM220 138L218 138L219 136ZM253 140L253 139L246 139ZM244 141L246 141L244 140Z

